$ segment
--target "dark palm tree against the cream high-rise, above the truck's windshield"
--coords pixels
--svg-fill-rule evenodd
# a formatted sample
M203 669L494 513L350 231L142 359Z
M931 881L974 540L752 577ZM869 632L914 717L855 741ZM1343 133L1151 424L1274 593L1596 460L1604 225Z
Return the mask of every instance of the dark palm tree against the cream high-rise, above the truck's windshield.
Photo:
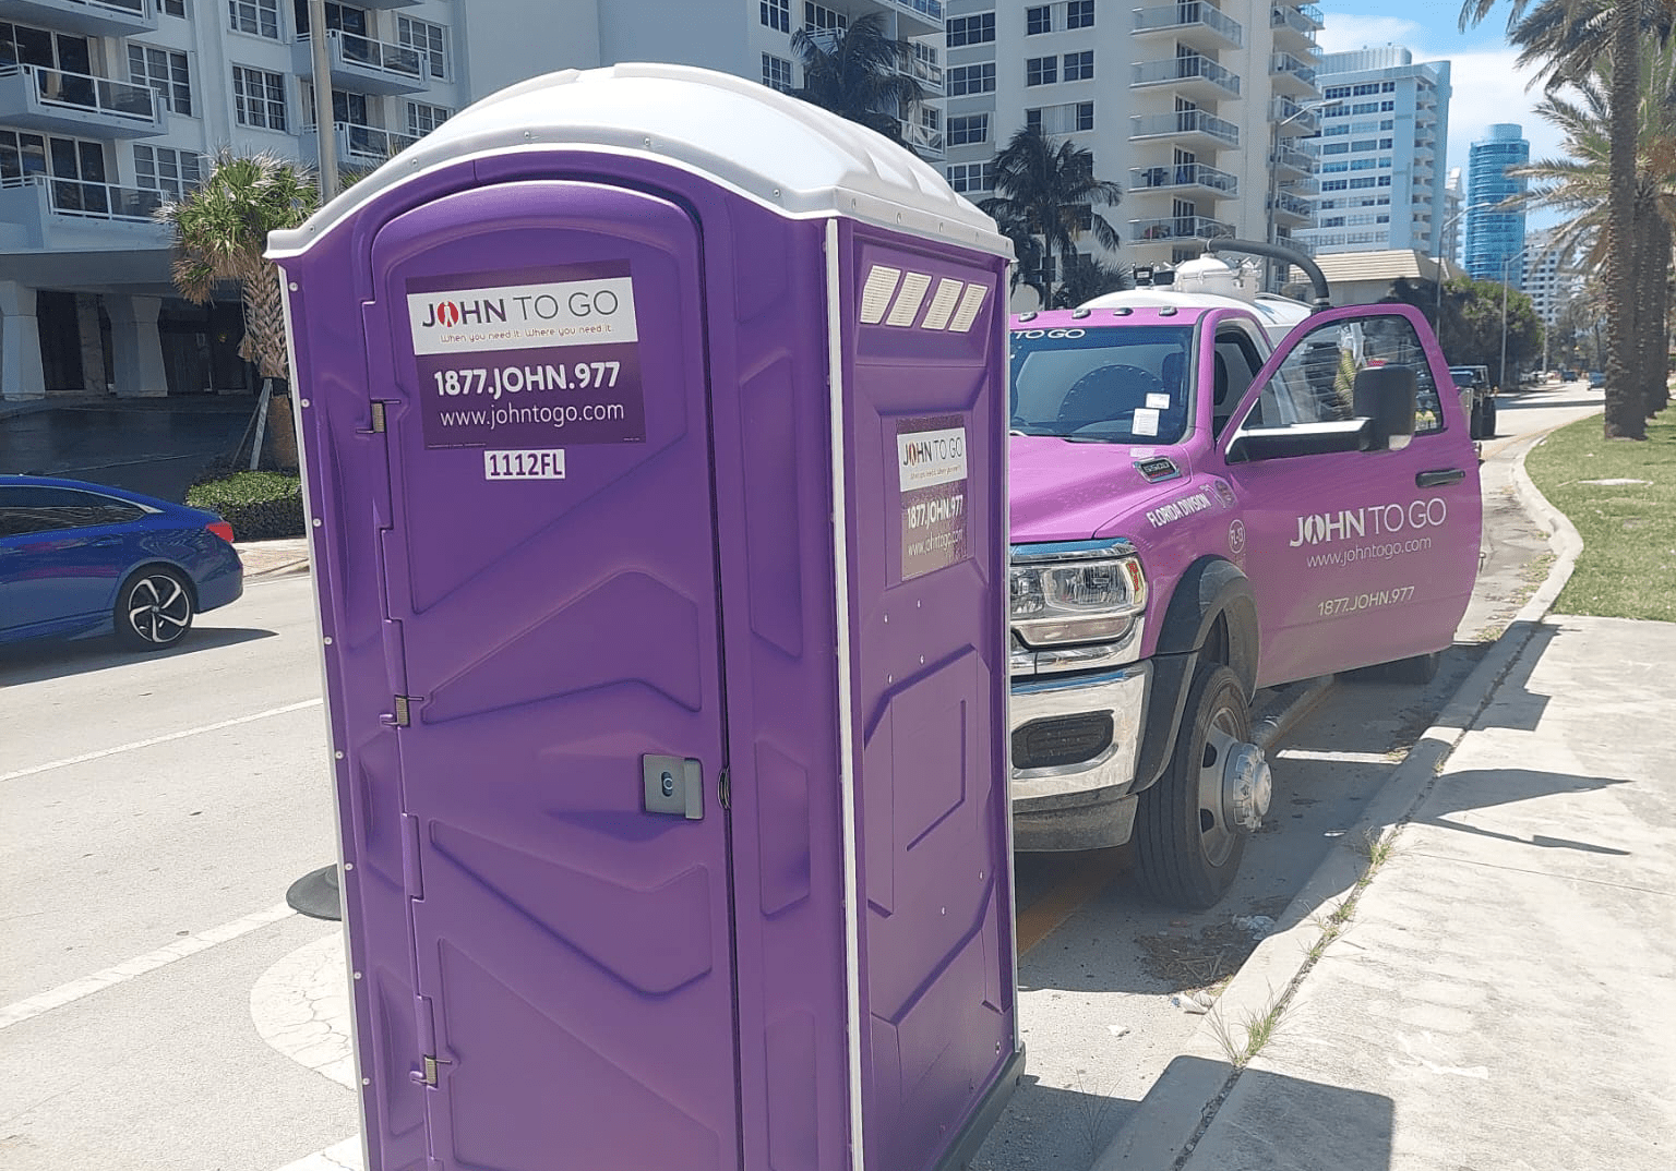
M1123 189L1096 179L1093 152L1069 139L1054 141L1029 126L1017 131L996 156L996 191L977 206L1014 238L1021 260L1026 251L1036 256L1037 268L1026 271L1024 283L1044 307L1054 303L1063 283L1054 280L1054 261L1066 278L1079 263L1079 235L1093 233L1101 248L1118 246L1116 230L1094 208L1116 206ZM1026 240L1029 246L1022 248Z

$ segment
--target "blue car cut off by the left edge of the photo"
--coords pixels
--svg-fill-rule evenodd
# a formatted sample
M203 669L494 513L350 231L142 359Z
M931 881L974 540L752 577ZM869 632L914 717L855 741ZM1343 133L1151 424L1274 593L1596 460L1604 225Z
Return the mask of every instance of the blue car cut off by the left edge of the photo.
M114 633L178 643L193 615L245 591L215 513L42 476L0 476L0 643Z

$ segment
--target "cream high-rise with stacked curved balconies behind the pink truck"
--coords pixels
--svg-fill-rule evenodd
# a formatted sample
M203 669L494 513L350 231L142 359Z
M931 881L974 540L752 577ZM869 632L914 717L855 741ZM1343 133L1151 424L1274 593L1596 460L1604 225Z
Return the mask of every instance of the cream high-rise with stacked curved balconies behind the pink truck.
M977 201L1024 126L1069 137L1123 186L1101 214L1121 263L1190 260L1210 236L1311 221L1314 5L1280 0L949 0L947 176ZM1098 251L1088 240L1088 251ZM1021 293L1024 300L1031 293Z

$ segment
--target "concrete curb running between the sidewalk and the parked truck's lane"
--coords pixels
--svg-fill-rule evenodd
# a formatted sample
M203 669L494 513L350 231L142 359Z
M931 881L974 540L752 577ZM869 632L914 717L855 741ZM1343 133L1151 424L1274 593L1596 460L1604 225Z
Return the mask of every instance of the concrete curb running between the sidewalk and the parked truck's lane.
M1555 427L1557 429L1557 427ZM1550 429L1550 431L1555 431ZM1356 883L1369 866L1369 846L1388 843L1401 831L1420 802L1436 784L1438 771L1490 704L1502 678L1542 628L1560 590L1570 580L1582 551L1582 538L1525 472L1525 456L1550 431L1544 431L1513 457L1513 484L1520 504L1539 528L1549 533L1555 551L1554 568L1542 586L1520 608L1507 630L1490 647L1470 675L1445 704L1436 722L1415 742L1391 777L1368 802L1363 816L1334 844L1316 871L1280 913L1272 935L1265 936L1252 957L1217 997L1217 1003L1193 1032L1182 1054L1153 1082L1111 1143L1094 1159L1091 1171L1178 1169L1193 1154L1198 1139L1210 1127L1240 1070L1229 1060L1218 1032L1284 1009L1304 977L1314 967L1309 952L1321 938L1317 915L1329 913L1356 891ZM1321 680L1316 680L1319 684ZM1331 685L1331 684L1329 684ZM1314 690L1314 687L1311 689ZM1321 695L1326 694L1321 689ZM1319 699L1319 695L1317 695ZM1307 709L1306 709L1307 710ZM1272 739L1277 739L1279 732Z

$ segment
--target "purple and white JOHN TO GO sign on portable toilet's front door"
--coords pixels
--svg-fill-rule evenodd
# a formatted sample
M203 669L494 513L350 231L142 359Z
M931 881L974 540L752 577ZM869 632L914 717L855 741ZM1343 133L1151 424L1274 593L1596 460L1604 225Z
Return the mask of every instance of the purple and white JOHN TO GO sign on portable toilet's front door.
M426 447L645 439L627 263L471 280L407 281Z

